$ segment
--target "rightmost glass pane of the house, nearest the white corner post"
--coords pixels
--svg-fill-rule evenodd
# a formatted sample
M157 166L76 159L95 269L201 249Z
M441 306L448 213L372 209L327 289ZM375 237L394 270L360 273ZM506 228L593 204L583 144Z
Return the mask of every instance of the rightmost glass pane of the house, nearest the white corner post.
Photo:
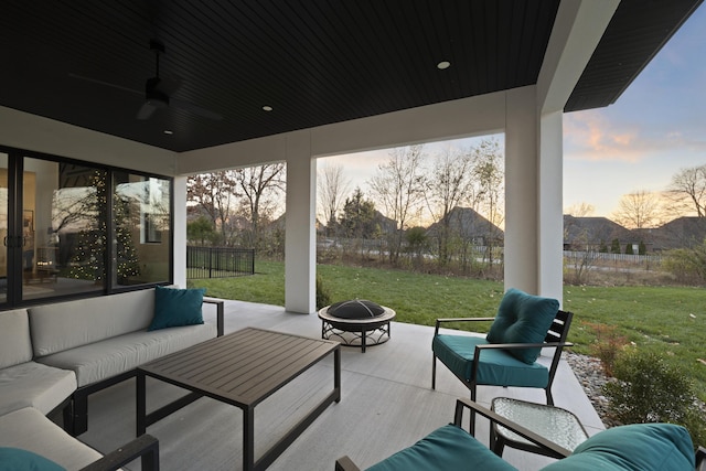
M170 281L169 189L169 180L116 173L114 285Z

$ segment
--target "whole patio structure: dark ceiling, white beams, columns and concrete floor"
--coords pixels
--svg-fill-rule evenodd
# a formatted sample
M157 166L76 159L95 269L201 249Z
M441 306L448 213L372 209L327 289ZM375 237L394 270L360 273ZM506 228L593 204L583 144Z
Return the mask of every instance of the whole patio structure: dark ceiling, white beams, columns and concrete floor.
M318 338L317 159L504 132L505 287L561 300L563 115L618 99L702 1L10 1L0 15L0 150L173 179L164 281L182 287L188 176L286 162L286 306L227 301L226 332ZM157 97L152 40L167 51L162 73L183 77ZM136 119L145 105L153 116ZM18 227L21 185L8 193ZM345 349L341 403L271 469L331 470L343 454L371 465L451 421L456 398L469 393L445 368L431 390L432 332L394 322L389 342ZM308 371L261 405L258 446L297 421L330 368ZM181 394L152 386L148 407ZM485 405L504 395L544 400L542 390L479 390ZM554 395L589 433L602 429L564 362ZM81 440L105 452L135 437L133 381L90 399ZM239 463L239 427L237 409L200 399L148 432L165 470L225 470ZM477 436L488 437L482 420ZM550 461L505 457L523 470Z

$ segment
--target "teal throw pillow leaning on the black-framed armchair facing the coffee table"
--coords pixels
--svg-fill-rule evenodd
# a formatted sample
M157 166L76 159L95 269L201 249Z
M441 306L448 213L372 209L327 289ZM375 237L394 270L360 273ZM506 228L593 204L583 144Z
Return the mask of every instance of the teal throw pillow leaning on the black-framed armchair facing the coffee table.
M503 296L490 327L489 343L541 343L559 310L559 301L510 288ZM509 350L521 362L537 361L542 349Z

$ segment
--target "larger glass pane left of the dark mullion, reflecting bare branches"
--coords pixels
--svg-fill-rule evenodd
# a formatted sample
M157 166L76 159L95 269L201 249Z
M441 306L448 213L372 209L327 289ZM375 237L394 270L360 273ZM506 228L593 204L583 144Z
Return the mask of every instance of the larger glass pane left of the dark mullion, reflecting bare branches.
M105 287L106 172L24 159L22 299Z

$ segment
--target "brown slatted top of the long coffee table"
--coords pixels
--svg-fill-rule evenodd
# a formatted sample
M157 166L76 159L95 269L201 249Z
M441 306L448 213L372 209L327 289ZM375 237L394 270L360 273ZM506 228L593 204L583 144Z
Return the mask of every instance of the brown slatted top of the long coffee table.
M239 407L253 407L338 347L338 342L247 328L139 370Z

